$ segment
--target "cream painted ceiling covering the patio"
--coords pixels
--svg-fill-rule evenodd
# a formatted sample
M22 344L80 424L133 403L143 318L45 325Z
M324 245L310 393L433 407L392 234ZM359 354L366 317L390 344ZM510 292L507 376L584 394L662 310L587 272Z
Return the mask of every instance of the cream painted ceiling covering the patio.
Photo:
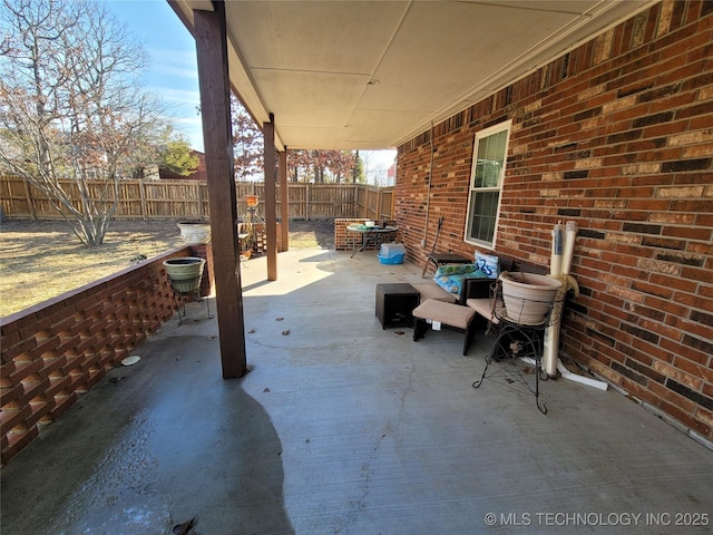
M229 78L277 149L394 148L652 3L231 0Z

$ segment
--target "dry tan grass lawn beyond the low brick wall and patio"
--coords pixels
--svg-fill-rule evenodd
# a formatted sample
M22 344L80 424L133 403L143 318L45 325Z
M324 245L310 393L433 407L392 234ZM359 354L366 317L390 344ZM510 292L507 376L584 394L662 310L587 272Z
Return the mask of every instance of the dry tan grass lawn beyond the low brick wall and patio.
M61 221L0 226L0 317L75 290L183 245L175 221L111 223L104 245L86 249ZM291 249L333 249L333 222L291 222Z

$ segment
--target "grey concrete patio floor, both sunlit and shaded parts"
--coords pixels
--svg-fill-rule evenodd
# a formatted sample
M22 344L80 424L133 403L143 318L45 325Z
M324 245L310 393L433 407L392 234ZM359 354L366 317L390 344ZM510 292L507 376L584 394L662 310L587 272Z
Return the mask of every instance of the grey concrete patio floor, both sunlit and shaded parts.
M242 270L252 371L188 305L2 468L3 535L710 533L713 453L621 393L479 389L492 339L374 315L370 252ZM212 310L215 310L215 303ZM177 319L177 318L176 318ZM531 378L531 377L530 377ZM693 524L699 524L693 525Z

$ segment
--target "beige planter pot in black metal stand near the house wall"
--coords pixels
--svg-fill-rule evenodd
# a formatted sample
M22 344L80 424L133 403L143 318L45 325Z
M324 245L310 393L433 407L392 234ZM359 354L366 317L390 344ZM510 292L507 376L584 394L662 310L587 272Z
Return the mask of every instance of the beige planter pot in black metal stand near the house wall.
M522 325L545 322L561 281L534 273L500 273L502 301L509 320Z

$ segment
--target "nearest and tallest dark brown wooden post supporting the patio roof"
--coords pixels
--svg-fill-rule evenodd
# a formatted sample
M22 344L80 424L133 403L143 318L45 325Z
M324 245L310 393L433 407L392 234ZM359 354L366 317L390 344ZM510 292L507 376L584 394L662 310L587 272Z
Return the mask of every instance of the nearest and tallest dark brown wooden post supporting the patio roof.
M225 4L214 2L214 6L215 11L195 10L193 14L208 175L221 361L223 377L228 379L245 374L247 359L237 244Z

